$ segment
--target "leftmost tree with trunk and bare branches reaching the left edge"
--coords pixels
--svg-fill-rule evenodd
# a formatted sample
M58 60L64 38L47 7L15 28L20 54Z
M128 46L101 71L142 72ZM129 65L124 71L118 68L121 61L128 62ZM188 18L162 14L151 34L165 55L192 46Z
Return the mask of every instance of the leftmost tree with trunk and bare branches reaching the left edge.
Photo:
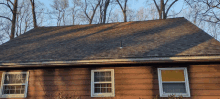
M11 21L12 25L11 25L10 40L12 40L12 39L14 39L14 35L15 35L15 25L16 25L16 15L17 15L18 1L14 0L14 3L13 3L11 0L7 0L6 3L0 3L0 4L3 4L5 6L7 6L10 9L10 11L12 12L12 20L9 17L0 16L1 18L5 18L5 19ZM13 9L10 5L13 6Z

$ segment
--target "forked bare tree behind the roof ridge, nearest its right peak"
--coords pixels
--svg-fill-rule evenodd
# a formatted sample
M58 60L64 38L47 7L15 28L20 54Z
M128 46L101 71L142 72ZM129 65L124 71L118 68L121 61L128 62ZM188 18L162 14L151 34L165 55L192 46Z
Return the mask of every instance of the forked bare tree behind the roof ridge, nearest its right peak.
M167 18L167 15L168 15L168 12L170 10L170 8L178 1L178 0L172 0L172 3L166 7L168 5L168 2L170 0L166 0L166 2L164 2L164 0L160 0L160 5L158 5L158 3L154 1L154 4L157 8L157 12L159 14L159 19L166 19ZM166 9L167 8L167 9Z

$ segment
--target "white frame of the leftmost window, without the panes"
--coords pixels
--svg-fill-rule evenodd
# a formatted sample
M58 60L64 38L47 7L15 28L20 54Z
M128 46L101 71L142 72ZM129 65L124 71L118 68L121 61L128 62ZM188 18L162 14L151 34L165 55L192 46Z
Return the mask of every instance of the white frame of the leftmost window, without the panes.
M26 74L26 81L22 84L4 84L5 74ZM1 81L1 90L0 90L0 98L26 98L27 90L28 90L28 78L29 71L27 72L3 72L2 73L2 81ZM3 85L25 85L24 94L3 94Z

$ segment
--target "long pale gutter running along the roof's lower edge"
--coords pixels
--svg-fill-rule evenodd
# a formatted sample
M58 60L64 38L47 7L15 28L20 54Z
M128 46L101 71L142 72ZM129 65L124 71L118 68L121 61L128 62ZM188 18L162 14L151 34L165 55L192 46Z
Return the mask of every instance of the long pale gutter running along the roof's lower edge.
M24 67L51 67L74 65L105 65L105 64L135 64L135 63L187 63L187 62L220 62L220 56L179 56L179 57L154 57L154 58L126 58L126 59L96 59L76 61L45 61L28 63L1 63L0 68Z

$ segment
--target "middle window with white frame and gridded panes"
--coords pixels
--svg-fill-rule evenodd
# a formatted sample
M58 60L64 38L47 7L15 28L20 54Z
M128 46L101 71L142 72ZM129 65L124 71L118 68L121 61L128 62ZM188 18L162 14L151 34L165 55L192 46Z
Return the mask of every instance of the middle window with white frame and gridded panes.
M91 71L91 97L114 97L114 69Z

